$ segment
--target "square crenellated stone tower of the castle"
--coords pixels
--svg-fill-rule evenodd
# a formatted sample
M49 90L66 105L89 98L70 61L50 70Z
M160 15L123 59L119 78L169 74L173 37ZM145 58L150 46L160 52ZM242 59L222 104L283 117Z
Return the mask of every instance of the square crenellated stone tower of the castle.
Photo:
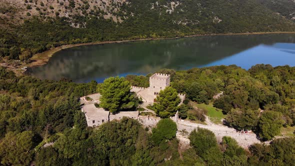
M157 95L167 86L170 86L169 74L154 73L149 77L149 90L153 95Z

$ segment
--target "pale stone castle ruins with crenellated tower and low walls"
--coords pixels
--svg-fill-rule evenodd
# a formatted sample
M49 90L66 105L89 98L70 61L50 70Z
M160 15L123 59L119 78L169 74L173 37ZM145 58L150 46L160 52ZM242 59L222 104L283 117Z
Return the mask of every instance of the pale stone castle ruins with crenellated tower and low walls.
M170 75L162 73L154 73L149 77L149 87L137 87L132 86L131 91L136 92L136 94L142 98L143 102L151 104L154 102L154 99L159 94L160 90L165 89L170 86ZM140 119L142 123L154 124L160 118L159 117L148 117L148 116L139 116L138 111L121 111L116 114L111 114L109 111L104 110L101 107L96 107L94 103L99 103L100 94L90 94L87 95L91 100L86 100L86 96L80 98L81 104L84 104L81 108L82 112L85 113L86 121L88 126L97 126L104 122L111 121L113 119L121 119L123 116ZM178 94L180 98L180 103L185 99L185 94ZM177 116L176 116L177 117Z

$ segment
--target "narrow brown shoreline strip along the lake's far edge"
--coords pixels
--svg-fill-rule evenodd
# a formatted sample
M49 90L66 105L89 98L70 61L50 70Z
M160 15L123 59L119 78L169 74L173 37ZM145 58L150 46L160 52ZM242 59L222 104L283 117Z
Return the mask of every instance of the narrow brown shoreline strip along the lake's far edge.
M96 42L85 42L85 43L76 43L76 44L67 44L67 45L61 45L57 46L54 48L51 48L49 50L46 50L41 53L36 53L32 55L31 62L24 64L21 63L17 68L10 68L7 67L8 69L11 69L14 71L17 75L19 74L24 74L25 72L22 72L21 68L22 67L35 67L35 66L41 66L44 65L48 62L50 57L53 56L54 53L66 49L66 48L71 48L75 46L81 46L81 45L94 45L94 44L107 44L107 43L121 43L121 42L130 42L130 41L144 41L144 40L161 40L161 39L177 39L177 38L184 38L184 37L196 37L196 36L217 36L217 35L259 35L259 34L285 34L285 33L290 33L294 34L295 31L275 31L275 32L245 32L245 33L211 33L211 34L194 34L194 35L184 35L181 37L167 37L167 38L141 38L141 39L130 39L130 40L113 40L113 41L96 41Z

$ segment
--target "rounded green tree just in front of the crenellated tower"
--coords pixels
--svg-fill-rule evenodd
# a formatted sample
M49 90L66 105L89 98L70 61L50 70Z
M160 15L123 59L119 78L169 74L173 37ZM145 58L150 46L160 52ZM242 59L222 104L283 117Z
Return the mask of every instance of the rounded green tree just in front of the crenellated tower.
M159 92L155 101L156 102L153 104L155 113L158 116L165 118L176 113L180 98L178 97L176 89L169 86Z

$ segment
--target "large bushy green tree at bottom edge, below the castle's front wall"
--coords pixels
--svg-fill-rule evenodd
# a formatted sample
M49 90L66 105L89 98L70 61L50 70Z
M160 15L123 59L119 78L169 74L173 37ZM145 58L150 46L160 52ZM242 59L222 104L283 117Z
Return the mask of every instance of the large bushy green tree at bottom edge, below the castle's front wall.
M91 135L100 165L131 165L137 136L142 130L137 120L126 117L102 124Z

